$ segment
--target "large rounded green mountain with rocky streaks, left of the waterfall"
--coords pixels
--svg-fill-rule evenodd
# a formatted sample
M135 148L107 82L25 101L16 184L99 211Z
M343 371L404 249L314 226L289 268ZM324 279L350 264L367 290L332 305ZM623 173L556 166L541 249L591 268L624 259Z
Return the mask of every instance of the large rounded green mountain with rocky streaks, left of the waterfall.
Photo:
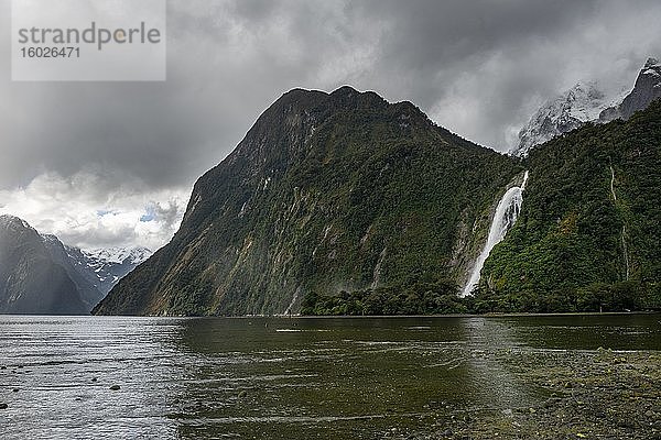
M522 174L410 102L291 90L197 180L172 241L94 312L284 314L311 294L463 285Z

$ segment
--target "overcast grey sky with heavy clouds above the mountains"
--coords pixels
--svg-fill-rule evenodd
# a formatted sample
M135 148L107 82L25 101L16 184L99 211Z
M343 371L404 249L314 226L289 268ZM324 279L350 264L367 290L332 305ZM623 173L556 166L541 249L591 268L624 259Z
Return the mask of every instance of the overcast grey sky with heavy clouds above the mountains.
M169 1L164 82L12 82L0 0L0 213L83 248L174 233L189 190L294 87L410 100L506 151L546 99L632 86L661 2ZM142 219L142 221L141 221Z

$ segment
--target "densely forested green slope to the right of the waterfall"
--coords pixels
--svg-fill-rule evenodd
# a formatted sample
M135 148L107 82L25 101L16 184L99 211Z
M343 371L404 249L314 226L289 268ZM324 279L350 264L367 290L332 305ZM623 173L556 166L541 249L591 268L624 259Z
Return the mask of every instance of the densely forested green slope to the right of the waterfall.
M661 100L531 150L519 220L486 261L483 310L661 307Z

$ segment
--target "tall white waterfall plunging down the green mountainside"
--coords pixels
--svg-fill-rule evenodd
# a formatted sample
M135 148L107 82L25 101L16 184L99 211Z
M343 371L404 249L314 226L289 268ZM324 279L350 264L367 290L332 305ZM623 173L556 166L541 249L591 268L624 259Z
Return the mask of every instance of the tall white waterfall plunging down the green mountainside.
M507 231L514 226L514 222L519 217L519 212L521 211L521 205L523 204L523 189L525 189L527 182L528 172L525 172L523 175L523 183L521 186L513 186L508 189L498 202L496 213L494 215L494 220L491 221L491 228L489 229L489 237L487 238L485 248L475 262L475 266L470 273L470 278L468 279L468 283L466 283L464 292L462 293L463 297L470 295L475 286L477 286L479 283L481 268L485 265L485 261L487 261L489 253L496 244L500 243L502 239L505 239Z

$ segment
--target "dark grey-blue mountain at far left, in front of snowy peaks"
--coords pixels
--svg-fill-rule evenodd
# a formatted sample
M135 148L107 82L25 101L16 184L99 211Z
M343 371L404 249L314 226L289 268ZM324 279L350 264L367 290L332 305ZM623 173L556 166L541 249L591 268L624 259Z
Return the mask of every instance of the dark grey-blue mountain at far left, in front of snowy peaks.
M83 315L88 307L39 232L0 216L0 314Z

